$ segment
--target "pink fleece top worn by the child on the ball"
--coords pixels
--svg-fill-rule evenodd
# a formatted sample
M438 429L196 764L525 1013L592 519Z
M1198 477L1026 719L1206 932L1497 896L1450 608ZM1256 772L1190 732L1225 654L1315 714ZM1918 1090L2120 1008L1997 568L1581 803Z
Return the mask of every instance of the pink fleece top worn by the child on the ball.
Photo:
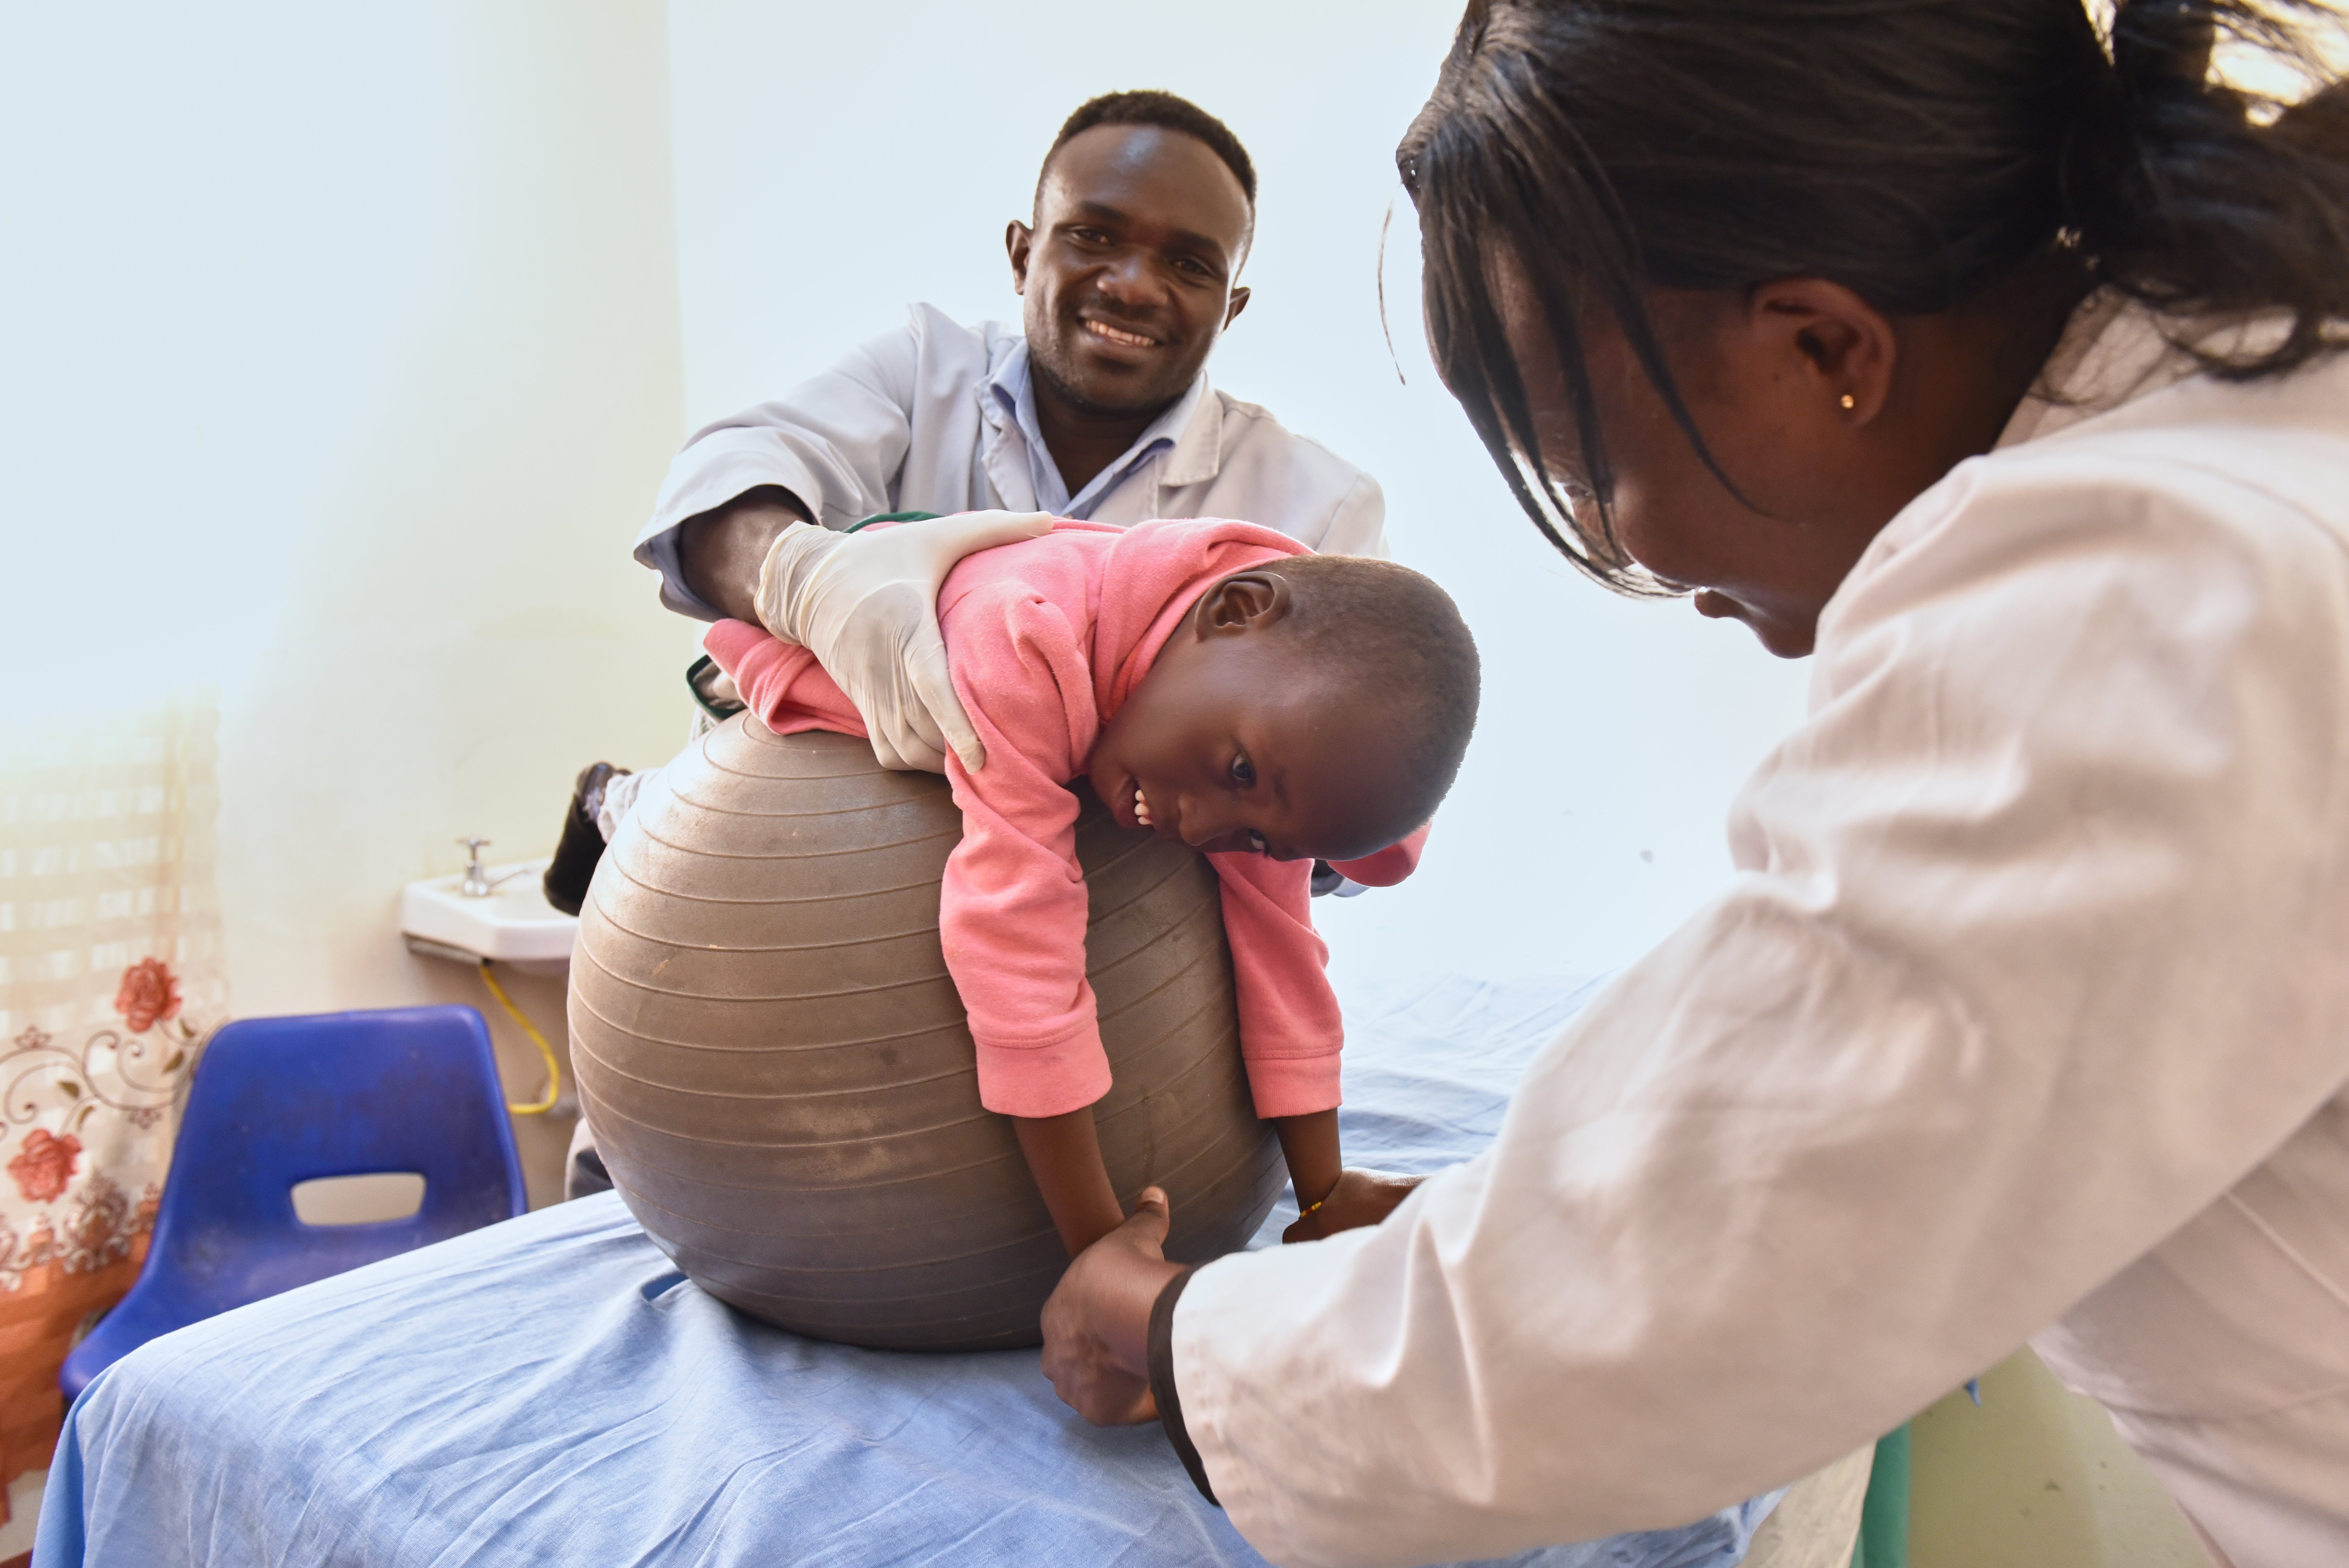
M1048 1117L1109 1091L1109 1056L1085 981L1085 878L1076 796L1109 718L1214 582L1306 547L1231 521L1135 528L1059 521L1024 545L963 559L937 594L954 690L987 744L987 768L947 756L963 843L947 857L940 939L980 1047L980 1101ZM806 648L721 620L702 638L742 699L778 735L864 721ZM1402 845L1346 866L1395 883L1419 859ZM1339 1101L1344 1026L1313 934L1311 861L1210 854L1240 1007L1240 1054L1257 1115Z

